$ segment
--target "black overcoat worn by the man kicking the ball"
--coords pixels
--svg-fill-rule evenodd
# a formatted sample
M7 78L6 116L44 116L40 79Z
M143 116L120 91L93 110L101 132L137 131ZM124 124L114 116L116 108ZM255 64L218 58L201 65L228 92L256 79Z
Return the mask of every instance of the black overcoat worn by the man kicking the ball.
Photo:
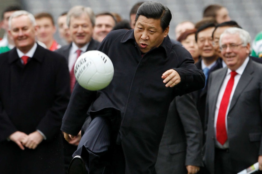
M91 111L120 110L119 130L125 155L126 174L149 174L154 170L167 111L177 95L201 89L205 76L194 65L190 53L169 37L141 56L134 30L110 32L98 47L114 65L112 82L103 90L91 92L76 84L64 115L61 130L76 135L86 118L81 117L91 103ZM162 74L173 68L181 77L176 87L165 87Z

